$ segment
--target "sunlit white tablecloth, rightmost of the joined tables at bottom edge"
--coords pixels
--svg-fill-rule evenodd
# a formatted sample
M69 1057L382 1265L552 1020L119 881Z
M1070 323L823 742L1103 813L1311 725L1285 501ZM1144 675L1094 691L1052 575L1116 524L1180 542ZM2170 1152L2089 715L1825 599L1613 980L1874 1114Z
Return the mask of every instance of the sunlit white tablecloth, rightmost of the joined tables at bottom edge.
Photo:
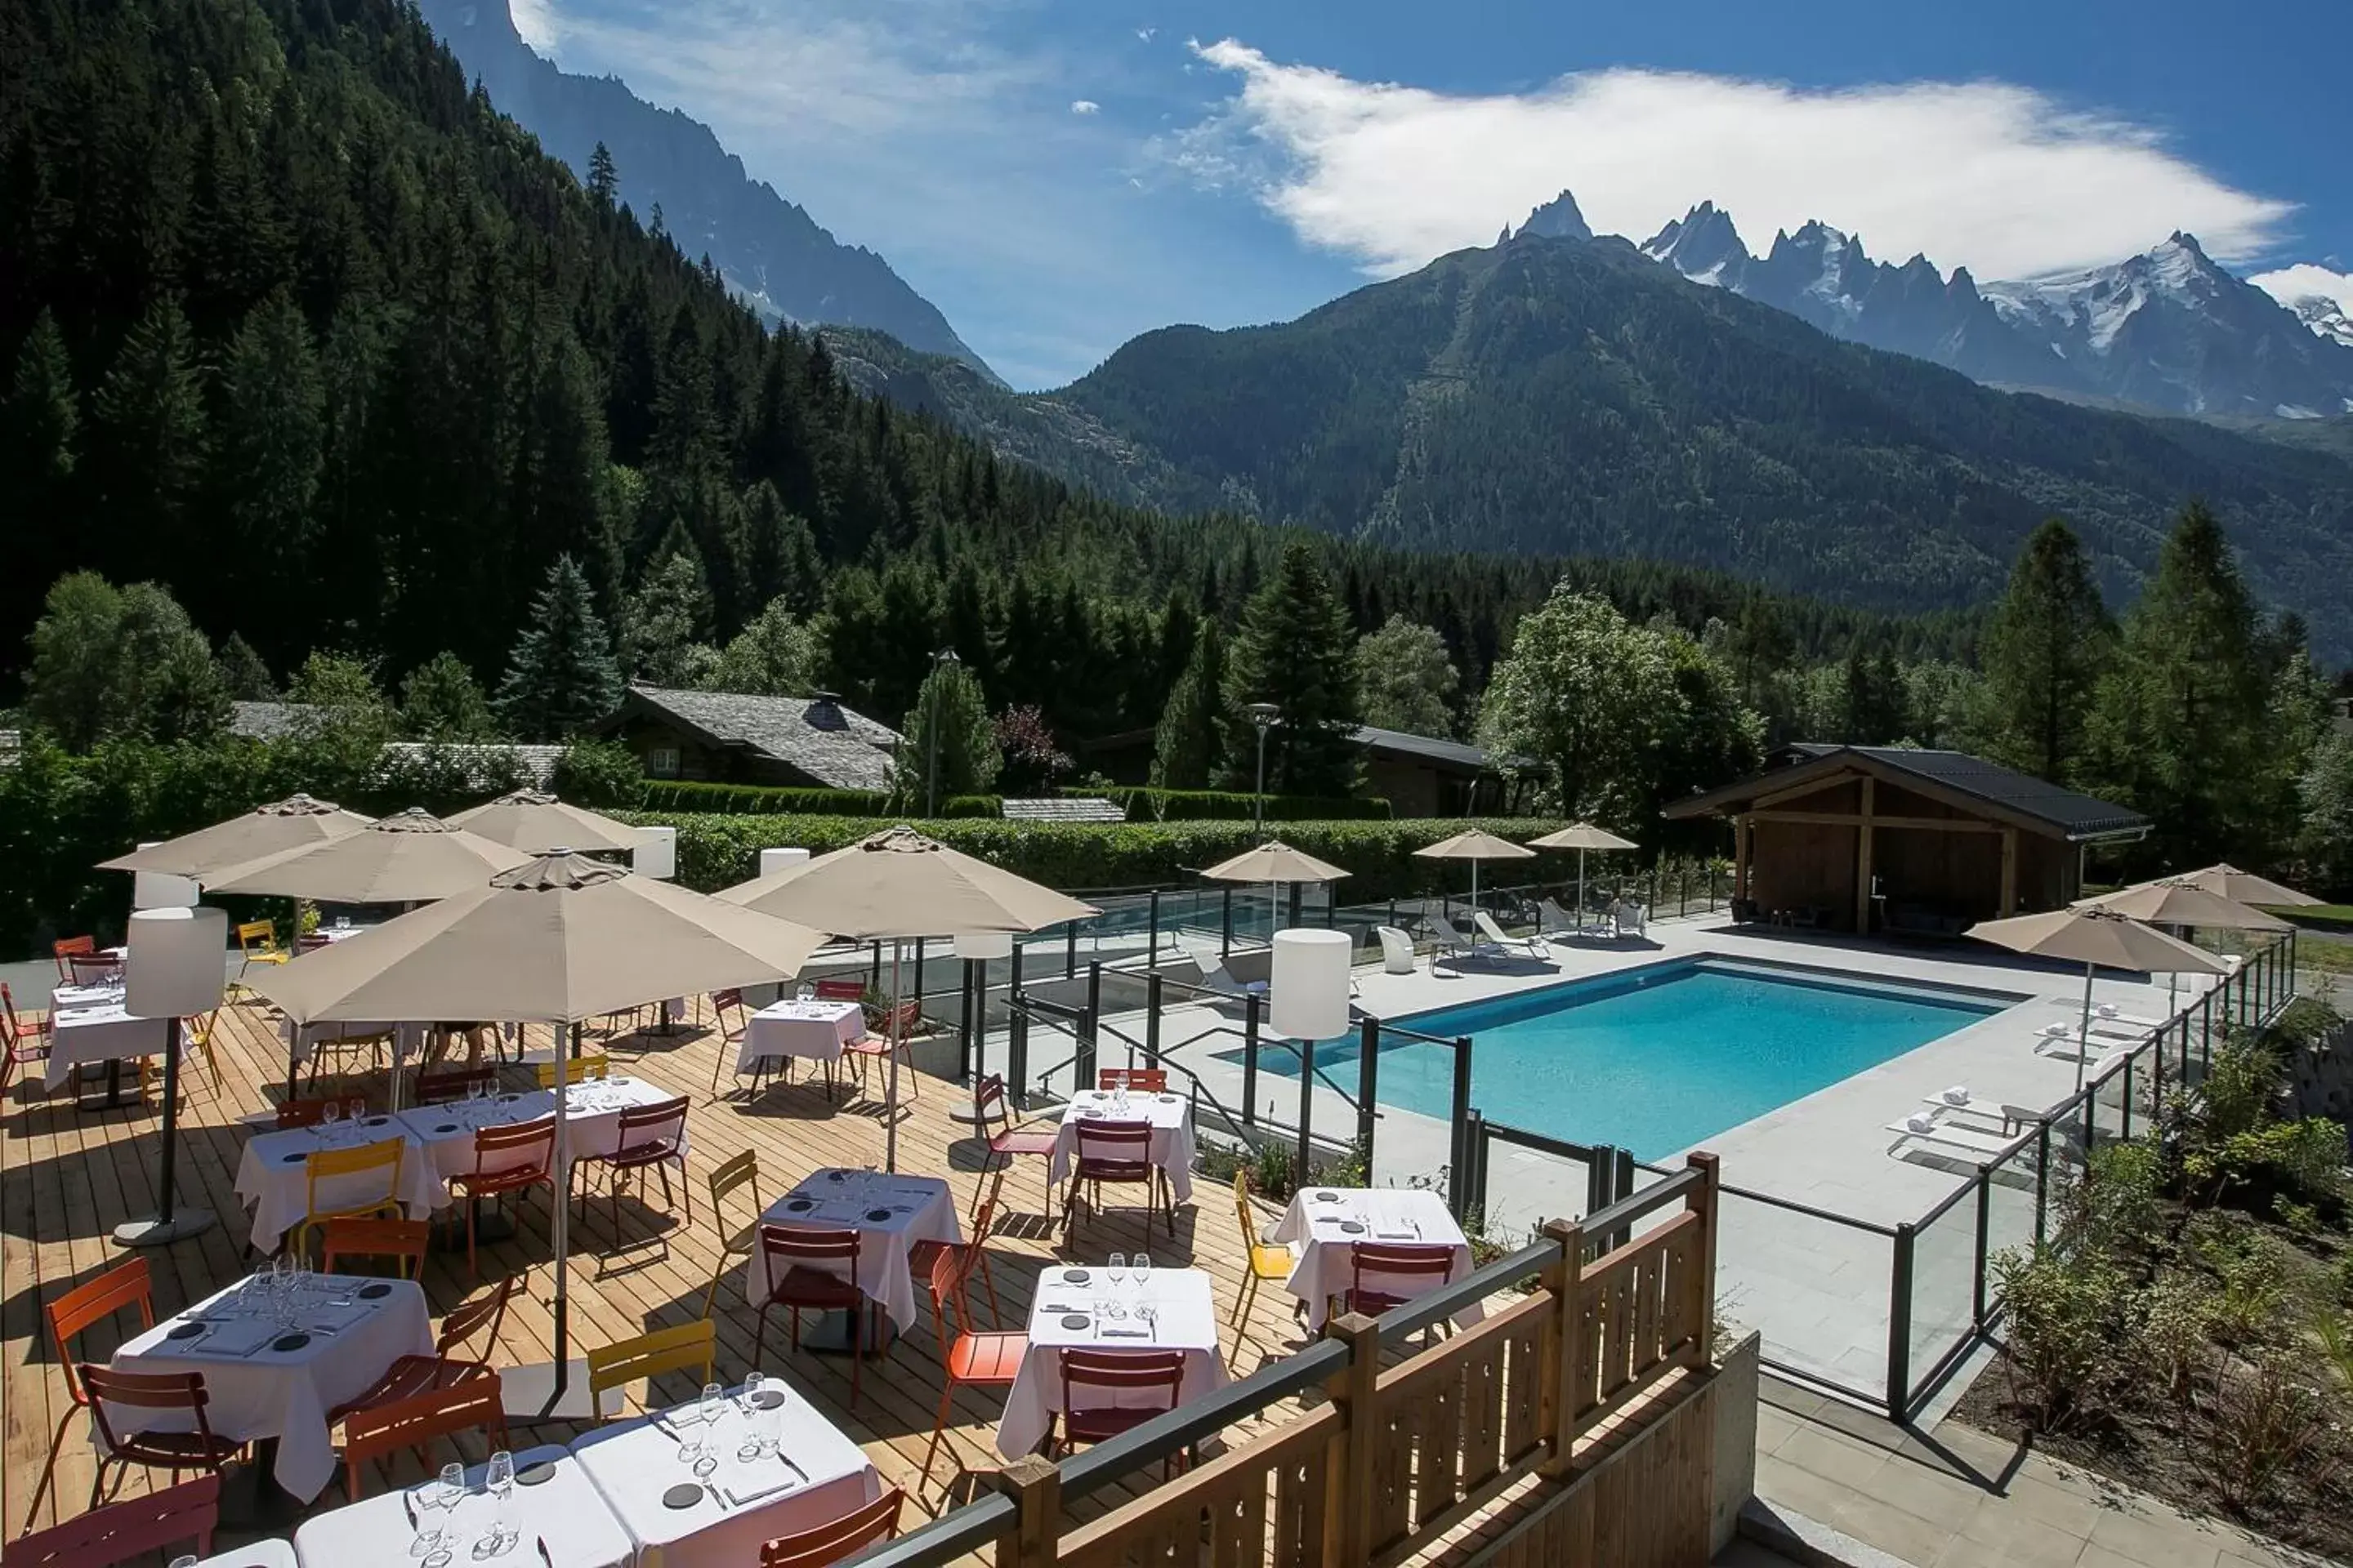
M779 1460L736 1458L744 1441L746 1418L729 1401L718 1429L720 1467L708 1476L711 1486L741 1488L741 1502L722 1505L704 1497L692 1507L673 1509L661 1495L680 1483L694 1481L694 1472L678 1458L673 1432L704 1436L704 1427L692 1408L664 1410L656 1418L614 1422L572 1441L572 1453L588 1472L605 1507L633 1542L638 1542L638 1568L741 1568L760 1561L760 1547L779 1535L795 1535L816 1528L828 1519L873 1502L882 1495L882 1476L866 1462L840 1429L819 1415L807 1399L769 1378L769 1387L781 1387L784 1406L776 1410L784 1455L800 1467L795 1476ZM729 1389L739 1394L741 1389ZM776 1481L781 1490L755 1495ZM558 1568L569 1568L562 1556ZM520 1563L518 1568L532 1568Z

